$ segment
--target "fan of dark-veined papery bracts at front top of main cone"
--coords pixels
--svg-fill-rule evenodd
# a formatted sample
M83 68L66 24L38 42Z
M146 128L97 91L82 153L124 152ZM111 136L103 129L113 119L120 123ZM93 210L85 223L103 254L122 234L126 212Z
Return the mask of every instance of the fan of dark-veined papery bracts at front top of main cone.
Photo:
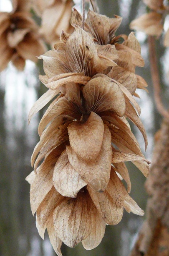
M55 44L55 50L50 50L39 59L44 60L45 76L40 80L51 90L74 82L86 84L94 75L101 73L108 66L116 65L113 60L98 56L93 38L80 27L66 40Z

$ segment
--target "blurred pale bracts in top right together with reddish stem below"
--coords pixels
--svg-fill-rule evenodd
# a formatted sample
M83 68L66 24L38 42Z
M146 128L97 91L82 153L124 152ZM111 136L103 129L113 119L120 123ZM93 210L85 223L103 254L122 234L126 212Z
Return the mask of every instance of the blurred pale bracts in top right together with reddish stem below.
M132 21L130 24L130 28L144 31L148 35L151 77L154 86L154 99L156 102L156 107L161 115L169 118L169 113L167 110L165 110L160 96L160 77L159 68L157 65L156 46L154 38L154 36L158 38L162 34L164 30L164 21L167 13L169 13L169 8L167 5L163 4L163 0L143 0L143 2L148 5L148 8L151 11ZM169 46L169 29L164 35L164 46Z

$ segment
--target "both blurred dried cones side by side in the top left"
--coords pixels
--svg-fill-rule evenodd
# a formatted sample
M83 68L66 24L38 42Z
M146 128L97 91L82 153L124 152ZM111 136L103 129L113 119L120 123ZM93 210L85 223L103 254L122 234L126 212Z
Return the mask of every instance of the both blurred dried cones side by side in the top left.
M25 60L36 63L35 56L46 52L45 42L53 47L62 29L73 32L70 24L73 0L13 0L12 3L10 13L0 12L0 71L10 61L23 71ZM32 18L31 9L41 18L40 27Z

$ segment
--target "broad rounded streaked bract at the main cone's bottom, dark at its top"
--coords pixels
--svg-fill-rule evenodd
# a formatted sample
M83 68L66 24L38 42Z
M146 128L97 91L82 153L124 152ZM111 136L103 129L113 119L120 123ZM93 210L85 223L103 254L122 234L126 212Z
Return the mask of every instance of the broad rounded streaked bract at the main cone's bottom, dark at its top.
M75 199L65 197L53 213L55 230L69 247L86 239L93 232L97 219L97 209L86 189L81 190Z

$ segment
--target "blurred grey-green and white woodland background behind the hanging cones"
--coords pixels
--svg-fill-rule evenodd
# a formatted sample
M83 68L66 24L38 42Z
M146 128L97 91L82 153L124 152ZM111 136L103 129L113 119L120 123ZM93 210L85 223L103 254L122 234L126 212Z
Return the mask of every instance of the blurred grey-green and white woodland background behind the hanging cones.
M81 3L76 0L81 8ZM76 7L77 7L76 6ZM146 12L141 0L98 0L101 14L113 17L122 16L123 21L116 34L131 32L129 23ZM0 10L10 11L10 0L0 0ZM169 20L168 20L169 21ZM164 28L169 26L166 24ZM148 136L148 149L144 152L144 140L139 130L132 127L145 157L151 160L154 134L161 124L155 104L149 67L149 50L146 35L136 32L141 44L141 55L145 60L144 68L137 68L136 73L142 76L147 84L149 94L138 90L141 99L141 120ZM169 98L169 49L164 48L162 38L156 42L158 50L159 72L161 77L161 96L167 108ZM19 72L9 64L0 73L0 256L54 256L52 246L45 234L43 241L35 226L35 216L30 211L30 185L25 181L32 171L30 157L39 137L38 123L45 110L40 111L28 126L28 112L33 103L46 91L40 84L38 74L42 73L42 62L35 65L27 61L25 70ZM131 196L142 209L146 209L145 178L134 165L128 164L131 177ZM63 256L129 256L136 240L136 235L144 221L144 216L124 212L123 219L116 226L107 226L101 244L86 251L81 243L76 248L63 245Z

